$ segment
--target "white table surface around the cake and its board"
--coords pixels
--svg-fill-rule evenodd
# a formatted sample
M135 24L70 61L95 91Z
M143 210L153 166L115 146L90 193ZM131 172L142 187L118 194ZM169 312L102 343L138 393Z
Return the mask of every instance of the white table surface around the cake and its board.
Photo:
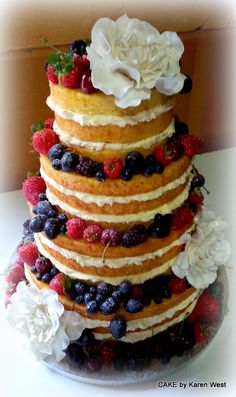
M133 396L154 397L168 395L183 396L217 394L232 396L236 390L235 376L235 308L236 302L236 148L221 150L198 156L195 165L204 174L206 186L211 194L206 201L211 208L229 223L228 238L232 244L232 256L227 268L230 298L229 313L218 334L193 362L177 370L166 379L182 382L226 382L226 388L212 389L191 388L158 388L157 381L145 384L120 387L97 386L78 383L60 376L39 362L34 361L18 345L15 331L4 321L3 308L0 308L0 381L3 397L116 397ZM0 194L0 269L3 269L21 237L22 224L28 218L27 205L21 191Z

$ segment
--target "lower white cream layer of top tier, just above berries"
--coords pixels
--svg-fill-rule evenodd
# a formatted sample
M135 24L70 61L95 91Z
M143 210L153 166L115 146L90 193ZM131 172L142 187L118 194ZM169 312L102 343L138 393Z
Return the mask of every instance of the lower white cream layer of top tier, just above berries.
M68 135L65 131L63 131L55 121L53 124L53 129L59 136L60 140L66 145L75 145L84 147L87 149L93 149L96 151L100 151L103 149L109 149L114 151L120 150L135 150L135 149L149 149L153 145L162 142L164 139L169 138L175 131L174 127L174 119L171 121L169 126L158 135L153 135L149 138L143 139L141 141L130 142L130 143L108 143L108 142L91 142L91 141L84 141L71 135Z

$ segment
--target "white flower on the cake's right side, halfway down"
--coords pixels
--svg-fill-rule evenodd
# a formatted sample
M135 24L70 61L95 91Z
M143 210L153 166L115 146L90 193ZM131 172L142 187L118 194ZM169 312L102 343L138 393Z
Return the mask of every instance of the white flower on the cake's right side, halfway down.
M173 272L186 277L195 288L207 288L217 277L218 266L230 256L230 245L224 239L227 224L204 208L196 219L197 228L192 236L186 234L185 250L179 255Z

